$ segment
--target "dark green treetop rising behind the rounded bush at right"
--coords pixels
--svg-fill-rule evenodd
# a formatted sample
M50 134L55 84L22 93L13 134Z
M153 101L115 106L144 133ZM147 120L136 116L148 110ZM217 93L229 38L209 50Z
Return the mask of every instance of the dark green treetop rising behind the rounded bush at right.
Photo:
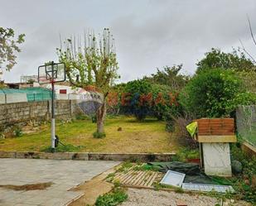
M221 50L212 48L210 52L205 53L205 58L197 64L196 73L205 69L235 69L235 70L255 70L253 62L246 58L243 52L233 50L231 53L225 53Z

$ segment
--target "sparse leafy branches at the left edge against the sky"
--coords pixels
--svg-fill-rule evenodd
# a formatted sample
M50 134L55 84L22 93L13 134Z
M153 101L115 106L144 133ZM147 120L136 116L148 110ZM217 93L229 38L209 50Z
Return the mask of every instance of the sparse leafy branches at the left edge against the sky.
M0 69L11 70L17 64L16 52L21 52L18 45L24 42L25 34L20 34L15 39L12 28L0 27Z

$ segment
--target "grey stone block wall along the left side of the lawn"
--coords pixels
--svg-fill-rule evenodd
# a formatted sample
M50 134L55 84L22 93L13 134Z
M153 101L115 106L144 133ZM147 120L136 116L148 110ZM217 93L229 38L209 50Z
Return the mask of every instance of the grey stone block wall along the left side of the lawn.
M68 119L81 113L76 100L56 100L56 119ZM0 130L18 123L51 119L51 101L0 104Z

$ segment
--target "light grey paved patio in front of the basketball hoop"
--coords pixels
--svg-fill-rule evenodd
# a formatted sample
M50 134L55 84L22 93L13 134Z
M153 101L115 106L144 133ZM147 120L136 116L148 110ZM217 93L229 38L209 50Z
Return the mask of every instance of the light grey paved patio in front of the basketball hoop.
M100 160L0 159L0 185L53 183L41 190L17 191L0 188L0 206L66 205L83 194L81 191L69 189L91 180L119 163Z

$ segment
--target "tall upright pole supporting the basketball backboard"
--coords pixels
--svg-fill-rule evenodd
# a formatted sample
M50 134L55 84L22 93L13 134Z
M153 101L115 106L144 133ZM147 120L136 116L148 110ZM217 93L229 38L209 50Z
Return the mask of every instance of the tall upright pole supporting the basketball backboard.
M56 119L54 108L54 62L51 62L51 152L56 151Z

